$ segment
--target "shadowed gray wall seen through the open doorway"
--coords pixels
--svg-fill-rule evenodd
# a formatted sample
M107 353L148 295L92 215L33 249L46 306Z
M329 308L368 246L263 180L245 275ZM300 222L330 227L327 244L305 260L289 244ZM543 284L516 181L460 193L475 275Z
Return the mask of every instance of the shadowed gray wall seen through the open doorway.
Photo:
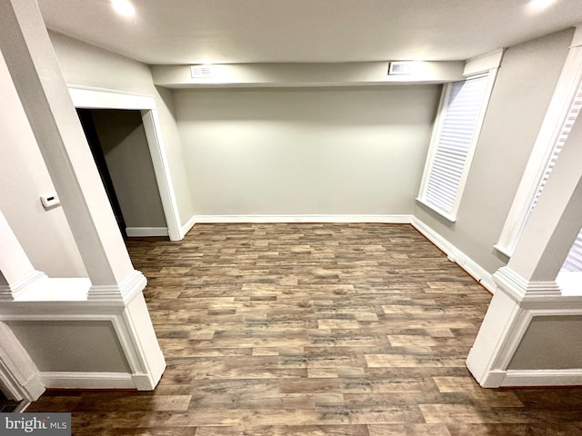
M127 227L166 227L139 111L91 112Z

